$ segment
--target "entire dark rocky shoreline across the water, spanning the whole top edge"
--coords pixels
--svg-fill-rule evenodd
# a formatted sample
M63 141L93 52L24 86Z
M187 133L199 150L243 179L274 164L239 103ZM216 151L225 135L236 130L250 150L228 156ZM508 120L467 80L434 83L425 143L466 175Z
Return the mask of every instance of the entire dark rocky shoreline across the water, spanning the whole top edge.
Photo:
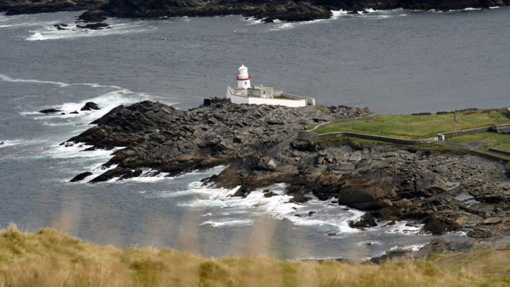
M243 15L265 22L310 21L327 19L331 11L366 13L373 10L462 10L510 5L510 0L385 0L385 1L233 1L233 0L71 0L34 1L0 0L0 12L6 15L88 10L79 16L80 21L100 22L108 17L162 18Z

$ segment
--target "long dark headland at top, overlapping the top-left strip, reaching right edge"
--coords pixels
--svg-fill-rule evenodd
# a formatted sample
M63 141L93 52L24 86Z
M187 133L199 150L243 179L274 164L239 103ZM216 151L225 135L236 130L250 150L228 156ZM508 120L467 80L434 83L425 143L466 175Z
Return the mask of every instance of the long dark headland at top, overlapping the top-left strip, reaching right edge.
M240 14L273 22L309 21L331 17L331 10L366 14L367 9L390 10L460 10L505 6L510 0L382 0L382 1L267 1L267 0L110 0L107 4L80 15L85 21L98 21L106 17L159 18L179 16L222 16ZM359 12L360 11L360 12ZM354 13L355 12L355 13Z

